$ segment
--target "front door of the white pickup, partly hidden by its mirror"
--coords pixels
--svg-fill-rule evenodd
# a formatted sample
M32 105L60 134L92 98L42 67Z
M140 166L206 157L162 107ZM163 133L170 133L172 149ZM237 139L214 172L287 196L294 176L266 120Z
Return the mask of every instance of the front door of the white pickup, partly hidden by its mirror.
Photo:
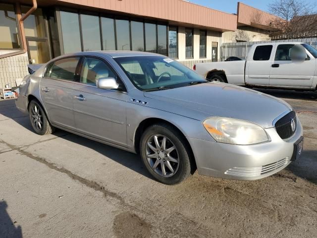
M307 56L303 62L293 62L290 52L294 44L279 44L271 65L269 85L281 87L311 87L315 60Z

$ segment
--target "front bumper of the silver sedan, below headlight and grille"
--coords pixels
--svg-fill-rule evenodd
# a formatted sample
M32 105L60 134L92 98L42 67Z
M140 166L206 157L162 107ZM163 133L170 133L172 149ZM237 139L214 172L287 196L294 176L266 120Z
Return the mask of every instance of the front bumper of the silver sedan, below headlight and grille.
M297 119L295 134L281 139L274 127L265 129L269 142L256 145L231 145L187 137L200 175L222 179L263 179L291 163L294 143L303 135Z

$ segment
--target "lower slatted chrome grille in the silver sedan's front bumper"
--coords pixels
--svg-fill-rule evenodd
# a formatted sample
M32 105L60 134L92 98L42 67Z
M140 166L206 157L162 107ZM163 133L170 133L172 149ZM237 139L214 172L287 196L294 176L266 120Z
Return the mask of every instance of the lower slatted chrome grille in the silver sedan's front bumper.
M224 174L238 177L257 177L278 170L287 165L289 162L289 158L286 157L277 162L259 167L234 167L227 170Z

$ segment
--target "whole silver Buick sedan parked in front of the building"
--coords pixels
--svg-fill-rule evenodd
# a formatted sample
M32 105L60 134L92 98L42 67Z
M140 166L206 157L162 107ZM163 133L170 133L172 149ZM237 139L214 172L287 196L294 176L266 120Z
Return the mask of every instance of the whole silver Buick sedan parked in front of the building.
M60 128L139 153L158 181L254 180L302 153L302 125L275 97L209 82L165 56L82 52L26 76L16 106L36 133ZM128 158L127 158L128 159Z

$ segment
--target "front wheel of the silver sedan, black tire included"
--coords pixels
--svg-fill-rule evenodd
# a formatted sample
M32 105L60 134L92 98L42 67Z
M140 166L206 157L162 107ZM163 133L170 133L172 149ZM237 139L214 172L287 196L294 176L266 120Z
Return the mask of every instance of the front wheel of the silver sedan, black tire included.
M171 150L173 146L175 149ZM148 127L141 136L140 155L145 167L155 179L172 185L187 179L194 167L188 146L184 136L173 126L159 123Z

